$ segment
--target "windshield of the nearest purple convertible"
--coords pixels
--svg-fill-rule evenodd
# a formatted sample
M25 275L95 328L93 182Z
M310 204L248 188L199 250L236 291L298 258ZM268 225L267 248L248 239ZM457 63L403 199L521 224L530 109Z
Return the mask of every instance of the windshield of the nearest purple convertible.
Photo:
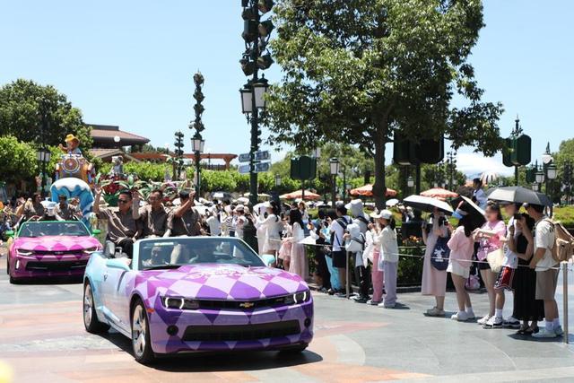
M219 237L146 240L140 242L138 254L140 270L198 264L265 265L241 240Z

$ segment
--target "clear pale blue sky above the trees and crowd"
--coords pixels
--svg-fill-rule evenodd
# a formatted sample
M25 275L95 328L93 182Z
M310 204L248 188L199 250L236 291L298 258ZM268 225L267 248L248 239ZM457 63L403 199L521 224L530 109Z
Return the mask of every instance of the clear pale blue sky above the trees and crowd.
M246 81L238 64L244 49L240 11L239 0L0 0L0 84L16 78L53 84L83 110L87 123L119 125L159 146L172 144L180 129L190 151L191 76L199 69L205 76L205 147L247 152L238 91ZM569 0L484 1L486 27L471 62L485 99L504 104L502 134L509 135L518 114L533 138L533 159L547 141L556 150L573 136L572 13ZM279 80L278 66L266 76ZM500 156L470 152L459 154L467 174L511 172Z

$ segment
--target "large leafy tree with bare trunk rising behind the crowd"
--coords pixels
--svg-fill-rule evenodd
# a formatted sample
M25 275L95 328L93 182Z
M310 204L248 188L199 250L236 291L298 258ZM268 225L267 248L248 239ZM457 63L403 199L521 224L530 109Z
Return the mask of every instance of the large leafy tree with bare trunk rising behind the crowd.
M480 0L280 0L274 11L283 81L268 97L270 142L358 145L374 160L378 207L396 132L500 149L501 105L481 100L467 62L483 27ZM466 100L458 108L455 91Z

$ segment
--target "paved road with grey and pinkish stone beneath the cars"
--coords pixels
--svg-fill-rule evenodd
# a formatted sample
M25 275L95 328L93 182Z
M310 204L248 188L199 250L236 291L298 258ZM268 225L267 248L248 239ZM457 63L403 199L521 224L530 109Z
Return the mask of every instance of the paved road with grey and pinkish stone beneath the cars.
M574 381L574 348L425 318L431 301L419 293L401 294L399 309L314 294L316 338L300 356L187 355L153 367L133 360L122 335L87 334L81 297L80 284L11 285L0 257L0 361L15 382ZM485 294L472 299L483 313ZM454 293L447 307L455 307Z

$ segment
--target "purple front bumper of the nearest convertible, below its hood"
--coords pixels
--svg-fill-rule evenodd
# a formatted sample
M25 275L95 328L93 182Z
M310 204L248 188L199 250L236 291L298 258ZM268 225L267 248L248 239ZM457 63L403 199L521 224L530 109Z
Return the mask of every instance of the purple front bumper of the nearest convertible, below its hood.
M280 350L313 338L313 300L254 310L149 311L154 353Z

